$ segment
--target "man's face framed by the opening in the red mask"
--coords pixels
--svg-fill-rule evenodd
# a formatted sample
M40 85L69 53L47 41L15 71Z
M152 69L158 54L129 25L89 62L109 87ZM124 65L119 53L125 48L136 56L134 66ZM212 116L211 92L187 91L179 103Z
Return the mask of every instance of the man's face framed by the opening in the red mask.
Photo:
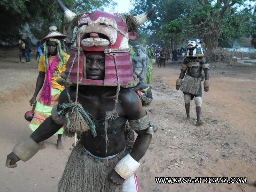
M86 57L86 77L93 80L104 80L105 57L101 55L90 55Z

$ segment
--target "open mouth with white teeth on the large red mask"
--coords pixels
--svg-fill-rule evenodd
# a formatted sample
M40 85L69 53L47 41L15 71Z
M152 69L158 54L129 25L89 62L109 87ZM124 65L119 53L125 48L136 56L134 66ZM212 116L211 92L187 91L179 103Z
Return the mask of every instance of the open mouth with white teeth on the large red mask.
M86 33L81 38L81 44L86 47L105 47L110 45L108 36L100 33Z

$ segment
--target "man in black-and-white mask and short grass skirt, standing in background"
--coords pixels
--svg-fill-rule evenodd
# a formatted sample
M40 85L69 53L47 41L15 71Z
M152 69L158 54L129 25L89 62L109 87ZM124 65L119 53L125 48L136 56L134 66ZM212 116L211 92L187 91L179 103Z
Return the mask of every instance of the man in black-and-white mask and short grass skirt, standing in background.
M209 64L205 63L204 54L199 40L188 41L188 51L185 54L185 59L181 66L180 77L176 81L176 89L181 90L184 93L185 109L187 113L187 120L190 119L190 100L195 97L196 104L196 126L204 124L200 120L201 108L202 108L202 85L203 81L202 71L204 70L204 91L209 91ZM186 76L185 76L186 75ZM184 81L182 79L185 77Z

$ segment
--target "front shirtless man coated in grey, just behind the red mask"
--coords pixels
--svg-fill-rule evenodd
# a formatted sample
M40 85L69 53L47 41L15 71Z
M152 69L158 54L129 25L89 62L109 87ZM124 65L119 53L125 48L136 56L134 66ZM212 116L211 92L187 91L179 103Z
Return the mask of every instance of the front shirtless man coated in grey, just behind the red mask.
M145 54L142 53L141 50L142 48L138 46L136 53L132 57L132 71L133 74L140 79L140 81L144 82L147 64Z

